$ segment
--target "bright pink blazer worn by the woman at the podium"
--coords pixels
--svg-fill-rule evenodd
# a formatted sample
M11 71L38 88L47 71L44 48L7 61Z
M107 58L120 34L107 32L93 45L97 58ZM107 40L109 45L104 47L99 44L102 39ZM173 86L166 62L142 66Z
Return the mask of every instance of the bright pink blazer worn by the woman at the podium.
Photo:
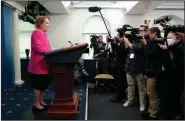
M49 68L44 53L51 50L47 35L39 29L34 30L31 35L31 57L28 71L33 74L48 74Z

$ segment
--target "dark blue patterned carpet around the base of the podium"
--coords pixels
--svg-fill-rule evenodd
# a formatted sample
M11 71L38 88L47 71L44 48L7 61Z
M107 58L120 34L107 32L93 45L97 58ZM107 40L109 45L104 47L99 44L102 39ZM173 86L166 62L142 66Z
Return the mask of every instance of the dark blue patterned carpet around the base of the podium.
M74 92L78 92L79 99L79 114L77 120L85 120L85 109L86 109L86 84L77 86ZM50 103L54 93L53 87L50 86L44 92L44 99L47 103ZM38 120L43 119L44 114L33 114L33 89L28 86L16 87L14 90L4 90L2 92L2 106L1 116L2 120Z

